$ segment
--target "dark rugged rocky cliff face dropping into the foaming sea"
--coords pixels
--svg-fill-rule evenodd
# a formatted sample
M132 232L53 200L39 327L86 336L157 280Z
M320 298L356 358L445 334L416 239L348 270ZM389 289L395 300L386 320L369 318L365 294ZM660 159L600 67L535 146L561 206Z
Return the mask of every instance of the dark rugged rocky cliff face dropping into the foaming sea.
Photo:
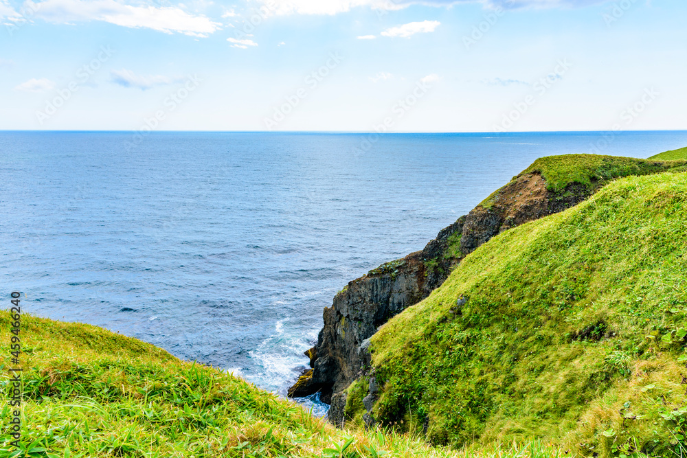
M331 404L333 424L343 424L346 388L366 373L369 354L365 340L383 323L425 299L441 286L462 257L498 233L562 211L592 194L569 185L563 192L547 190L538 173L516 177L467 216L438 233L422 251L387 262L348 283L324 309L324 328L317 345L306 354L311 367L289 389L289 396L308 396L317 391ZM362 347L361 347L362 346Z

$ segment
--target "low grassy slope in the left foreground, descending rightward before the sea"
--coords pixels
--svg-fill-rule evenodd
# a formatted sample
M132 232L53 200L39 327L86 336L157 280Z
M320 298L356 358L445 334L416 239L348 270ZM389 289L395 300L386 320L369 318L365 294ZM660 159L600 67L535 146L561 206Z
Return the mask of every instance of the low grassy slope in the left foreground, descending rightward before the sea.
M22 320L22 443L32 453L21 456L372 458L382 450L390 457L464 456L407 435L341 431L240 378L101 328L30 315ZM8 312L0 312L5 355L9 328ZM3 400L7 374L3 366ZM4 434L9 414L3 401L2 457L17 456ZM530 447L510 456L553 455L545 446Z

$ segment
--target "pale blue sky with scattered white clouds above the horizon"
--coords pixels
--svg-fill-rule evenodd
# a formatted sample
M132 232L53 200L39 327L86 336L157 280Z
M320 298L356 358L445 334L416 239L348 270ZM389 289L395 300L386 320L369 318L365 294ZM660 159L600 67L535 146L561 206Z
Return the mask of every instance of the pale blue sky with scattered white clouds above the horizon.
M684 0L0 0L0 129L684 130Z

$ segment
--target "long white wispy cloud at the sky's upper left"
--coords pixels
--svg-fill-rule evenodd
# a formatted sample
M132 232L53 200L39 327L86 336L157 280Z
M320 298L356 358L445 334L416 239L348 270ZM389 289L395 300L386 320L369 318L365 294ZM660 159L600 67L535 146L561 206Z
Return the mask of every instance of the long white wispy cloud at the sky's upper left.
M29 0L25 4L36 10L36 17L52 23L104 21L122 27L191 36L207 36L219 30L221 25L177 7L133 6L117 0L45 0L40 3Z

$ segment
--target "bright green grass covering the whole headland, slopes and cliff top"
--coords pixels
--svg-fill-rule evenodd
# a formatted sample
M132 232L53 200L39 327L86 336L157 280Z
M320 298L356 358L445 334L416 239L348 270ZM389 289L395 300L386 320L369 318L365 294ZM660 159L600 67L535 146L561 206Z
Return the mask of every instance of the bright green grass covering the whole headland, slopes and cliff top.
M687 457L686 163L574 159L526 172L561 192L570 176L609 184L482 244L385 323L345 429L142 341L24 314L22 450L3 402L0 457ZM5 355L9 330L0 312Z

